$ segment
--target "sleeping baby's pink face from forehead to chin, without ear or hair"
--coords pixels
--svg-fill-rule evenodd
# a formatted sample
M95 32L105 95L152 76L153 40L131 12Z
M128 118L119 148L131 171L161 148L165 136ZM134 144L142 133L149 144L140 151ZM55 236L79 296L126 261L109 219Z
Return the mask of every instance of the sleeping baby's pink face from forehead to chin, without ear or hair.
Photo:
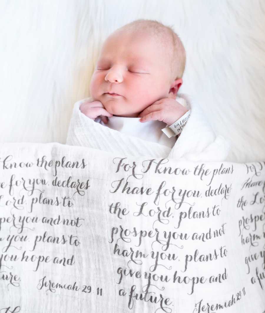
M113 115L137 117L155 101L169 97L170 83L168 59L154 38L118 32L103 44L90 94Z

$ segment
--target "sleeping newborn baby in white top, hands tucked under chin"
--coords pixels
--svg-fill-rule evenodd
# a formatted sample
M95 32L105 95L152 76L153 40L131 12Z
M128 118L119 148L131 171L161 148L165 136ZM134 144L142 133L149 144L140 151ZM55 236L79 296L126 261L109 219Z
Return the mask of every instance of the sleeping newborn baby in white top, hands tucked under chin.
M168 138L161 130L188 111L176 100L185 60L171 28L152 20L126 24L105 40L91 98L79 109L104 126L172 148L176 135Z

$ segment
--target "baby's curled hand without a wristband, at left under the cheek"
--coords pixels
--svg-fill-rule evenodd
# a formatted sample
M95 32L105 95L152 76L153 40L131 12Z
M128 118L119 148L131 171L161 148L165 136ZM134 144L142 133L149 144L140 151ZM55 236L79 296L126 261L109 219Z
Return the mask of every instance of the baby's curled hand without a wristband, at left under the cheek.
M112 117L113 114L109 113L103 106L103 104L98 100L90 100L82 103L79 107L79 110L95 121L95 118L100 116L101 120L107 124L108 117ZM107 117L108 116L108 117Z

